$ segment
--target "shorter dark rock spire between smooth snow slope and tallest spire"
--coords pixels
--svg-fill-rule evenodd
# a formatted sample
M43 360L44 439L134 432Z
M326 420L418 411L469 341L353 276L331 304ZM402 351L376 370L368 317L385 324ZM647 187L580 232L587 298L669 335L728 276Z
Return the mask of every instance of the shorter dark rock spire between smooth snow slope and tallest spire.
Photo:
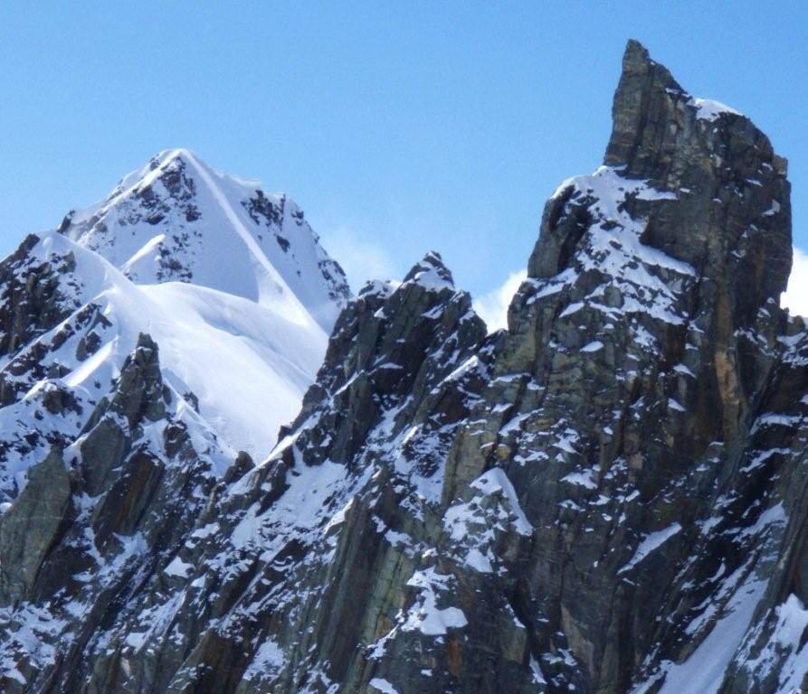
M426 399L447 373L471 356L485 333L485 324L471 309L471 296L454 290L452 272L431 251L401 284L368 283L348 303L292 429L303 427L314 408L321 413L342 409L333 420L321 414L324 430L312 427L302 439L333 438L328 455L346 461L346 442L361 437L357 430L375 426L385 409L407 394L414 402ZM362 417L347 415L356 408ZM410 403L396 426L409 422L413 414Z

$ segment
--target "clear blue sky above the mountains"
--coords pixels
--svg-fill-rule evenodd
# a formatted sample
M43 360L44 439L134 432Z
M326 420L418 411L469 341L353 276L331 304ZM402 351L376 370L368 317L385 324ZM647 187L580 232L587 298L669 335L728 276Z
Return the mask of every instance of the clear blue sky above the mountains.
M808 249L806 6L6 0L0 252L186 146L288 192L355 281L437 249L488 292L601 163L629 37L771 136Z

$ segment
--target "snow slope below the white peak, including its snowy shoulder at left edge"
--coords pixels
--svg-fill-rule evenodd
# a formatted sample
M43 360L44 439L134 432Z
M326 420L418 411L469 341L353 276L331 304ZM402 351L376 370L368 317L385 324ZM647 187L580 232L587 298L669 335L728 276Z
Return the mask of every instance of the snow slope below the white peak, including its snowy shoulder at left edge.
M157 342L164 380L198 408L205 430L230 460L236 450L260 456L271 449L280 425L297 414L325 352L328 336L308 314L290 320L290 312L276 311L278 304L179 282L137 286L55 232L29 251L28 267L55 258L74 264L59 275L62 301L72 310L0 371L19 398L0 408L4 492L14 496L24 487L26 471L47 454L54 432L70 436L84 426L139 333ZM24 368L28 363L36 369ZM52 389L70 394L64 397L75 403L72 411L36 408ZM31 431L43 434L39 445L20 443Z

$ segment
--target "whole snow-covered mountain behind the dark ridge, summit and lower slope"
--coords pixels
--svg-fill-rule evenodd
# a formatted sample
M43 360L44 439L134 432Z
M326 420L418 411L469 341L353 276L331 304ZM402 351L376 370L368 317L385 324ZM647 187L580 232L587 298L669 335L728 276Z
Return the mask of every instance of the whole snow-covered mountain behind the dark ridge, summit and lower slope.
M75 258L75 269L59 275L74 311L36 341L37 360L55 364L49 377L61 375L60 388L79 400L101 394L138 333L148 333L166 383L198 402L218 445L258 457L297 414L348 295L341 268L294 202L215 172L187 150L157 155L102 201L71 211L59 230L40 235L26 263L35 258ZM78 320L88 305L104 324ZM65 326L74 334L52 349ZM79 360L76 345L90 330L100 346ZM24 378L21 392L32 395L48 380ZM0 426L25 426L24 401L6 408ZM28 462L6 465L19 474Z

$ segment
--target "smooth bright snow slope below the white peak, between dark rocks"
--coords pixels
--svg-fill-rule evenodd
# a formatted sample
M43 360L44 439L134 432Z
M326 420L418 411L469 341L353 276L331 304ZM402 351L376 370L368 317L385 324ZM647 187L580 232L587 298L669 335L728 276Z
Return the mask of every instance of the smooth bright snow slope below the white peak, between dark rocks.
M188 384L216 431L252 455L266 455L281 424L297 414L328 335L304 314L296 322L215 289L169 282L144 286L157 308L145 330L161 361Z

